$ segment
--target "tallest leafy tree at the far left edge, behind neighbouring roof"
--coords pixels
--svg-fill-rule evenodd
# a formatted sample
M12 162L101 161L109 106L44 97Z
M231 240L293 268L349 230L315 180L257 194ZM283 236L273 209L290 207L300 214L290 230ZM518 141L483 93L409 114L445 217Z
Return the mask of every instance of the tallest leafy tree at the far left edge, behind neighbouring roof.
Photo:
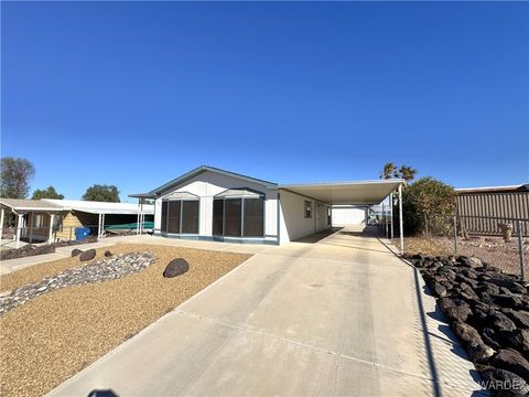
M0 196L4 198L25 198L30 192L30 180L35 168L25 159L2 158L0 163Z

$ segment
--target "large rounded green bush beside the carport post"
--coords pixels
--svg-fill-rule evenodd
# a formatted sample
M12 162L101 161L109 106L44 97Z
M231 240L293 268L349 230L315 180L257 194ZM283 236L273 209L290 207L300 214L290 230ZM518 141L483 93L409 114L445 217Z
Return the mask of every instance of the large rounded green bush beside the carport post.
M442 222L446 217L434 217L434 215L452 215L454 210L454 187L431 176L421 178L402 190L404 235L415 235L424 230L424 214L429 219ZM398 210L393 211L393 214L396 214L395 222L398 225Z

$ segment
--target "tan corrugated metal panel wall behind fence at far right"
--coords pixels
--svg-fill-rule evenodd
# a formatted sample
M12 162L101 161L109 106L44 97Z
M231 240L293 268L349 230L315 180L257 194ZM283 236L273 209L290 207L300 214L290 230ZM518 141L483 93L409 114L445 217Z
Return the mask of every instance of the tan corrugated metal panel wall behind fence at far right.
M529 233L529 192L460 193L457 194L457 214L462 216L462 223L468 233L500 234L499 223L519 218L523 219L522 227L527 235Z

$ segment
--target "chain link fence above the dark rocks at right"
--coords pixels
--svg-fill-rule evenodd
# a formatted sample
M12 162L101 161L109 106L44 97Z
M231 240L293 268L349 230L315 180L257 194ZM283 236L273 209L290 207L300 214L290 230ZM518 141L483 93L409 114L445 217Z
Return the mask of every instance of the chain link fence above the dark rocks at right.
M527 218L424 214L423 229L424 238L446 255L476 257L526 279Z

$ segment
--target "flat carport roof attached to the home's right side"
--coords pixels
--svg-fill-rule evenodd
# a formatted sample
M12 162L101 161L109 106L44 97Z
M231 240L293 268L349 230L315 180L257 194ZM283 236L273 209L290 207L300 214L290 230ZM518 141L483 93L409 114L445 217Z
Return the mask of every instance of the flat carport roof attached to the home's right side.
M389 193L395 192L403 180L376 180L334 183L283 184L279 189L326 203L330 205L379 204Z

